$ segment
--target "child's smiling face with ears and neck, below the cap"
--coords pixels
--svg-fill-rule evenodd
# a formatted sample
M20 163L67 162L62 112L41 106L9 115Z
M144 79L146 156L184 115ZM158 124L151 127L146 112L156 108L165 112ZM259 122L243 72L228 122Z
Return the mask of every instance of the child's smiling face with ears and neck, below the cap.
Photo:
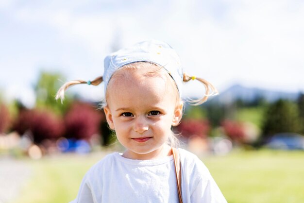
M174 81L159 75L147 77L139 69L127 71L127 77L108 85L104 107L110 128L127 149L123 156L141 160L167 156L171 126L178 125L183 109L183 103L177 103Z

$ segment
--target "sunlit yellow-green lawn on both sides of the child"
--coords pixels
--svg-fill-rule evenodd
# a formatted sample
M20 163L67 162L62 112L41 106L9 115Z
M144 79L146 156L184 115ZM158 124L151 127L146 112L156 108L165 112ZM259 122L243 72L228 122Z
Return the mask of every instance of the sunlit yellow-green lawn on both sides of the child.
M67 203L76 197L87 169L104 153L65 154L28 160L33 173L12 203ZM201 159L228 203L304 202L304 152L234 151Z

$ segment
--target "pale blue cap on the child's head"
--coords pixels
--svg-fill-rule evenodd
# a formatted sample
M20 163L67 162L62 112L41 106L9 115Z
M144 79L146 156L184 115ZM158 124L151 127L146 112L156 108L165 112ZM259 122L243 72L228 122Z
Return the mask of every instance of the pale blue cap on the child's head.
M104 59L104 92L113 73L124 65L135 62L150 62L167 70L175 81L181 96L183 69L180 58L169 44L151 39L109 54Z

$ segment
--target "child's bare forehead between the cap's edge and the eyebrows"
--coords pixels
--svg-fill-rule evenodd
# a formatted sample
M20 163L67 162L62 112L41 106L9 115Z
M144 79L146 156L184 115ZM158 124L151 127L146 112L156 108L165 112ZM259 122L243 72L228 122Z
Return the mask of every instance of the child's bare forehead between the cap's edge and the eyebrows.
M141 64L140 64L141 65ZM147 97L153 96L160 99L168 95L174 101L179 99L175 82L169 73L161 67L149 64L149 67L123 67L116 71L109 81L106 91L106 101L113 95L132 95Z

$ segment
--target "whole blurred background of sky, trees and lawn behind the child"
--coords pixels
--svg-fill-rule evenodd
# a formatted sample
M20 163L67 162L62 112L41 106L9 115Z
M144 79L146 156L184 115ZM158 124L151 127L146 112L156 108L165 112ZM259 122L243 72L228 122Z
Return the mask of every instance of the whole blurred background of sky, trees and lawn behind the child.
M304 201L304 1L0 0L0 203L66 203L84 173L119 151L103 85L110 52L169 43L185 72L220 94L186 103L174 128L229 203ZM184 85L200 98L203 86Z

